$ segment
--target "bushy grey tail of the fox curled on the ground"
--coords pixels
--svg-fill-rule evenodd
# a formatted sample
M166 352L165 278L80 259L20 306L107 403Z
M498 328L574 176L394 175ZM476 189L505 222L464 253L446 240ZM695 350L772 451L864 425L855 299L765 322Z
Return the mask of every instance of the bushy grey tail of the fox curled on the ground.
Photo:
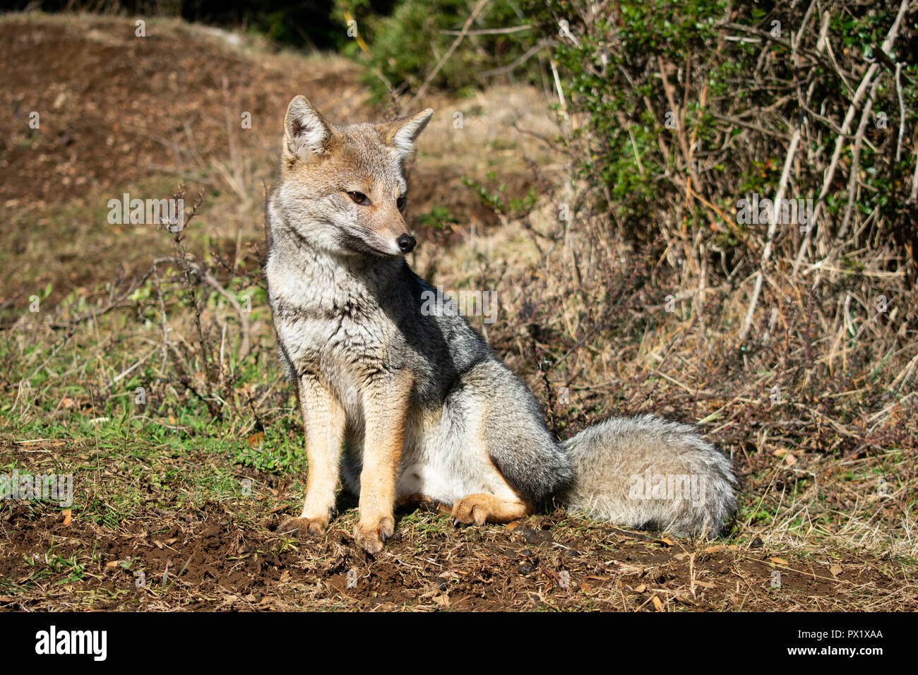
M628 527L720 534L736 506L730 460L694 427L655 415L612 418L562 446L574 465L568 509Z

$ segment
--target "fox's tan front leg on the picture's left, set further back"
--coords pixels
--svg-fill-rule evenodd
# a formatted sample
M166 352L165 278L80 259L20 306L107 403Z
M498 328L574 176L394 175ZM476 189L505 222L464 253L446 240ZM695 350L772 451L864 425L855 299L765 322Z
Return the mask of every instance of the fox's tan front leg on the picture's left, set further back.
M299 404L303 411L309 463L306 502L300 517L287 519L277 531L320 536L329 526L335 505L344 440L344 410L338 399L311 375L300 377Z

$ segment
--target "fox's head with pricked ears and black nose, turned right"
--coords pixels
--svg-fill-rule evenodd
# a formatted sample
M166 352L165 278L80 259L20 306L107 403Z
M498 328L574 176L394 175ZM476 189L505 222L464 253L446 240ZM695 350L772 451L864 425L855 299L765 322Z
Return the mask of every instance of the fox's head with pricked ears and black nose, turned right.
M338 127L295 96L284 118L278 186L289 225L331 253L409 253L415 239L404 218L405 159L432 114Z

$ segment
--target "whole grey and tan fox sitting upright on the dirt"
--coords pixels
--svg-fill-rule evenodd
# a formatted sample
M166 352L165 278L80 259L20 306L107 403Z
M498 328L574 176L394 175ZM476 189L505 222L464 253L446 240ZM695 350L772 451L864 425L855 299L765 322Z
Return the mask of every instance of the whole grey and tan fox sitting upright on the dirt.
M404 257L405 160L432 114L333 126L304 96L287 107L264 274L308 475L302 514L278 532L324 534L341 479L370 553L409 501L445 504L457 525L509 523L554 497L619 525L719 533L735 478L691 427L615 418L558 443L465 318L424 308L432 287Z

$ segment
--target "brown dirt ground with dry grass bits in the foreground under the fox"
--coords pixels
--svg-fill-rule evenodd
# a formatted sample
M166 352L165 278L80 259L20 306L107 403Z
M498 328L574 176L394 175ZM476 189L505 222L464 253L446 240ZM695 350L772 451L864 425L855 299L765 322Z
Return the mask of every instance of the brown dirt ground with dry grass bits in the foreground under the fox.
M28 444L23 453L7 442L3 452L28 455L22 458L38 465L33 470L50 473L62 470L51 453L68 454L55 443ZM77 452L93 455L91 448ZM193 465L207 457L183 453L180 461ZM140 517L116 516L113 523L94 523L78 506L5 506L0 579L28 591L0 596L0 607L655 612L819 611L856 603L918 609L909 571L890 558L806 547L775 551L756 537L672 539L562 509L481 527L454 527L448 514L431 509L401 512L394 539L371 557L354 544L356 511L346 496L325 537L296 541L274 529L280 512L296 510L301 492L289 479L252 470L240 475L261 488L192 509L149 494Z

